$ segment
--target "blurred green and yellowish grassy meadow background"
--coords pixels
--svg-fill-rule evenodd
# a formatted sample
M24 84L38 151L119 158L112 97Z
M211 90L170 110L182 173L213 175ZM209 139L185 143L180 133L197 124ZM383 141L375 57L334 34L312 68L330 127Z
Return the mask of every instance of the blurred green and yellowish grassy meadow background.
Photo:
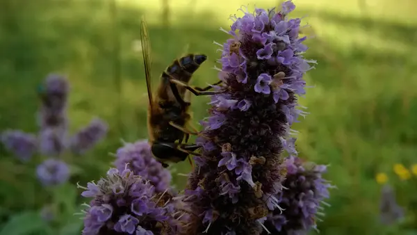
M147 138L145 78L135 46L142 13L149 19L154 81L186 52L209 58L195 73L195 85L216 81L212 67L220 55L212 42L227 39L219 26L227 27L225 15L236 13L246 2L227 1L222 6L211 1L213 8L204 10L199 8L210 3L202 1L198 8L197 3L184 6L185 2L170 1L172 24L166 28L158 3L148 7L121 1L114 19L112 1L0 1L0 131L37 131L35 87L49 72L67 74L70 79L72 128L87 124L95 115L111 127L94 151L71 159L76 165L71 183L54 190L40 187L35 165L17 162L0 147L0 235L79 234L82 221L73 213L81 210L83 200L76 182L85 185L104 175L113 161L108 153L121 146L120 139ZM380 224L380 186L375 182L377 172L391 170L395 163L417 163L417 18L410 10L417 3L295 3L293 16L308 15L304 21L317 35L307 42L307 57L318 60L316 70L306 75L314 88L300 99L311 114L294 127L300 131L297 145L300 156L329 163L326 177L338 186L331 192L332 207L326 208L325 221L318 224L320 233L417 234L410 230L416 227ZM268 4L276 2L256 3ZM220 12L222 7L229 12ZM117 80L118 63L122 81ZM207 97L193 98L197 127L206 115L207 102ZM183 188L186 177L177 173L189 172L189 166L179 163L172 170L173 184ZM411 215L417 211L416 186L404 184L401 193L409 197L398 197L398 203ZM410 197L414 199L402 200ZM57 202L57 214L55 220L45 222L38 211L49 200Z

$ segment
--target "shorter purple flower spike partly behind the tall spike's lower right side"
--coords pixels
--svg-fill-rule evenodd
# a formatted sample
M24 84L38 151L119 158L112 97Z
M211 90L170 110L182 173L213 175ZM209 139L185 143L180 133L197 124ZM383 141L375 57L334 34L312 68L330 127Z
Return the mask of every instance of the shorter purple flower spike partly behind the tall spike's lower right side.
M270 213L265 227L272 234L307 234L309 230L317 229L317 216L324 216L320 211L320 203L326 204L323 200L329 198L329 188L334 186L322 179L322 173L327 170L326 165L307 165L296 156L289 156L286 168L284 190L277 195L279 206L284 211L275 210Z

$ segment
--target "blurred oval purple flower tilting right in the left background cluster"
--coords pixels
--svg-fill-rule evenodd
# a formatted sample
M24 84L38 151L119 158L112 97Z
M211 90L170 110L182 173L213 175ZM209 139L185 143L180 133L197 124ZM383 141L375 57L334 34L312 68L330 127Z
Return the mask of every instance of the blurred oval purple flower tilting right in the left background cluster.
M70 140L72 152L76 154L85 153L106 136L107 130L106 122L99 118L93 119L87 127L83 127L83 129L72 136Z

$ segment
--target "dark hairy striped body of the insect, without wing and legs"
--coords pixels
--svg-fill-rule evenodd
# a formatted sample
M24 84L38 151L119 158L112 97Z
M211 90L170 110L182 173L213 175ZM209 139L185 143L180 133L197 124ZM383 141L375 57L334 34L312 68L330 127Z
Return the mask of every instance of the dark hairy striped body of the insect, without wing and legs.
M190 103L184 101L186 89L170 82L177 79L188 83L193 73L206 60L205 55L188 54L174 60L161 75L152 104L148 108L147 127L152 153L161 163L184 161L188 154L177 149L185 133L170 122L184 127L190 120ZM165 165L165 164L163 164Z

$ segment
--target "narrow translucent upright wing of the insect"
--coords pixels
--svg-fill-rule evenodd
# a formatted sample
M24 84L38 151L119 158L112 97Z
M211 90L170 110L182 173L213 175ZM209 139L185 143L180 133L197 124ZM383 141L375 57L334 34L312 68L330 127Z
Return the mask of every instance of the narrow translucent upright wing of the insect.
M146 77L146 86L148 92L148 99L149 99L149 107L152 110L152 87L151 87L151 42L149 41L149 35L147 31L147 24L145 21L145 17L142 17L142 21L140 22L140 41L142 44L142 56L143 56L143 64L145 65L145 77Z

